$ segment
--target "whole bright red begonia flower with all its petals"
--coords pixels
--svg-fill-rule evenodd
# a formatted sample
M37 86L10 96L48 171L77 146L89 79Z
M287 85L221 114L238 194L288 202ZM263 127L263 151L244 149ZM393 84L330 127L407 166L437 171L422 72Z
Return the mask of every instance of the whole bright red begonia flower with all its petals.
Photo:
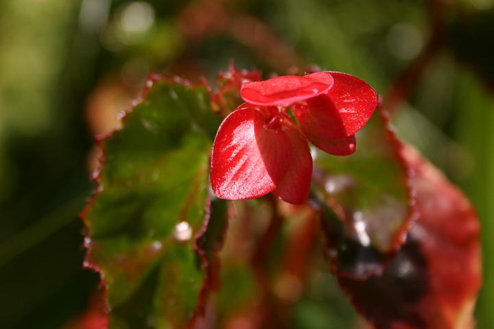
M240 95L246 103L224 119L211 155L211 185L222 199L272 192L305 203L312 175L307 140L329 154L353 154L355 132L377 106L371 86L338 72L246 82Z

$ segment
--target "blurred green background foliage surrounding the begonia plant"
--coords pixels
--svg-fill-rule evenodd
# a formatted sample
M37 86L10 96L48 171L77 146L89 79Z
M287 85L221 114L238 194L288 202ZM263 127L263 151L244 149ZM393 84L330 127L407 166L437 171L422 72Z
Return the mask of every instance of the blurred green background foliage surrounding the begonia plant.
M104 124L105 111L125 110L150 71L212 79L231 58L266 72L290 69L280 63L293 58L357 75L385 95L430 39L431 3L1 1L0 327L58 328L86 310L98 279L82 269L78 212L94 187L92 135L114 126ZM443 8L443 47L395 117L399 134L478 208L486 278L479 328L494 323L493 7L458 0ZM233 15L237 23L225 19ZM333 293L307 293L294 328L304 319L314 328L343 324L341 314L353 313Z

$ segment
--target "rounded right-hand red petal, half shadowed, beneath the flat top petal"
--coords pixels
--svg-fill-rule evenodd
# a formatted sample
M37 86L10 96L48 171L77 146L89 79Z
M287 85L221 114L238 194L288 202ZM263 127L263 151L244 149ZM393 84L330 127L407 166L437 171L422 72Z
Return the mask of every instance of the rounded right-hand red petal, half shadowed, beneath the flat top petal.
M377 93L362 80L346 73L317 72L306 75L324 81L331 74L333 88L325 95L307 99L307 107L296 111L303 132L322 138L351 136L367 123L377 107Z

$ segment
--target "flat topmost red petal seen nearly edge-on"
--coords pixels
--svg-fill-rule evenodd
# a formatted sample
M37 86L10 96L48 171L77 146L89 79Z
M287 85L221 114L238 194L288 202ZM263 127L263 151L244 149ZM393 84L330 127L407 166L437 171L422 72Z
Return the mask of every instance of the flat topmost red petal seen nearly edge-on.
M326 93L333 86L333 78L307 79L298 75L274 77L265 81L242 84L240 95L244 101L262 106L288 106Z

